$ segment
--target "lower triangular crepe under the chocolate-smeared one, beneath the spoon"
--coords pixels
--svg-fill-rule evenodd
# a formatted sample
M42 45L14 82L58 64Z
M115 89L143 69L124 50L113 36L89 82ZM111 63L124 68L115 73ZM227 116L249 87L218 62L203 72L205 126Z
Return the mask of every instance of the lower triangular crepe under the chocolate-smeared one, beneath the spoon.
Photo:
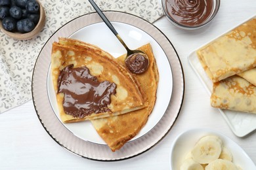
M112 151L118 150L127 141L135 137L146 124L148 116L156 102L156 90L158 88L158 68L150 44L139 48L148 55L150 65L142 75L133 75L142 88L142 96L148 106L119 116L91 120L96 131L108 144ZM117 58L124 65L125 56Z

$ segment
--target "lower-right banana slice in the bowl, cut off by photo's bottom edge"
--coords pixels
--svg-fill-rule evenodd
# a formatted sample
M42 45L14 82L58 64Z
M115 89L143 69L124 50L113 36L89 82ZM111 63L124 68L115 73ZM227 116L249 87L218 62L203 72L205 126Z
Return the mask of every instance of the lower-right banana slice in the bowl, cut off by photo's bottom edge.
M232 161L217 159L209 163L205 170L238 170L238 167Z

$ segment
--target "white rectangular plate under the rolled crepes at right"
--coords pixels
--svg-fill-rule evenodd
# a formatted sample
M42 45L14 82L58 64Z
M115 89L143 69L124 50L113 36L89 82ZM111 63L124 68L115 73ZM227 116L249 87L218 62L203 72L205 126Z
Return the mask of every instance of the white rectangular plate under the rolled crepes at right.
M255 18L255 16L253 16L252 18ZM251 18L249 18L248 20L250 19ZM228 30L226 33L231 31L232 29ZM206 44L209 44L209 42L207 42ZM206 44L204 44L203 46L205 46ZM202 48L203 46L201 46L200 48ZM196 75L198 75L198 77L202 81L209 95L211 95L213 83L211 82L209 77L206 75L200 61L198 60L198 56L196 54L196 51L198 49L194 50L194 52L192 52L188 56L188 61L192 66L192 68L194 69L194 71L196 72ZM209 104L209 107L210 107L210 104ZM256 129L256 114L238 112L233 110L225 110L225 109L219 109L219 111L223 115L223 118L224 120L226 120L226 123L228 124L230 129L238 137L244 137L245 135L247 135L248 133L251 133Z

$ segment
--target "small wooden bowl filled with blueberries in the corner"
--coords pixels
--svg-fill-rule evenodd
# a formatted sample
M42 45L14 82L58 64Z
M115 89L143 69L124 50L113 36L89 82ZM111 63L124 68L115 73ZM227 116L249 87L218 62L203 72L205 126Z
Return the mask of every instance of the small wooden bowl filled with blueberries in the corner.
M0 29L14 39L32 39L45 24L38 0L0 0Z

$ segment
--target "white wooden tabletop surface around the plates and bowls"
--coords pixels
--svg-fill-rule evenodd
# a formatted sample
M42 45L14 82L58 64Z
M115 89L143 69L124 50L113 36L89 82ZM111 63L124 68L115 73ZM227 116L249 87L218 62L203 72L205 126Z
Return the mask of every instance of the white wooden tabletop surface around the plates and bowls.
M165 17L154 23L173 43L181 58L185 95L181 113L168 135L155 147L129 160L102 162L80 158L58 145L39 122L29 101L0 114L0 169L169 169L170 148L177 135L192 127L208 127L238 143L256 163L256 133L236 137L219 110L209 105L209 95L188 63L188 55L205 42L256 14L255 0L223 0L219 13L207 27L185 31Z

